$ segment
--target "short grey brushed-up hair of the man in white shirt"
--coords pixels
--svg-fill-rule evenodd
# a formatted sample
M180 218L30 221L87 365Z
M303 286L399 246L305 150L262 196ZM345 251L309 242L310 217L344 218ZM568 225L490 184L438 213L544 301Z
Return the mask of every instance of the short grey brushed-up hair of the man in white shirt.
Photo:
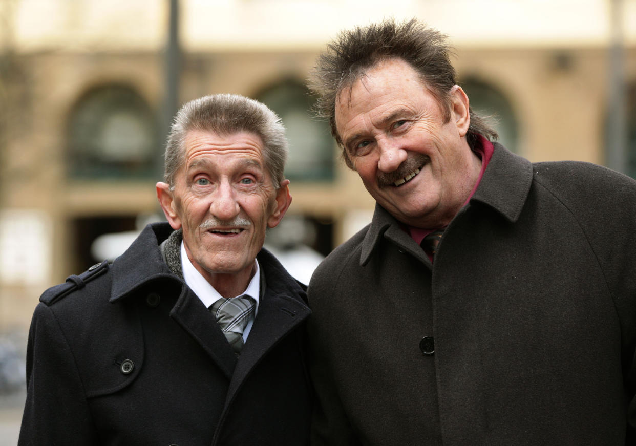
M265 169L276 189L284 179L287 138L280 118L265 104L235 94L200 97L184 104L170 127L165 148L165 182L174 188L176 172L183 165L185 139L191 130L228 136L252 132L263 140Z

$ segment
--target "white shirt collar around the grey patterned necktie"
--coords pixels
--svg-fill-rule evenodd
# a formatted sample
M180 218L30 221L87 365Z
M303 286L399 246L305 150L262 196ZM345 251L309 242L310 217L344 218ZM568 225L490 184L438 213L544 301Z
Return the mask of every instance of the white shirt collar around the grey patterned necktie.
M254 277L252 277L251 281L249 281L249 284L247 285L245 291L238 295L248 295L256 301L256 305L254 307L254 316L252 316L252 318L247 323L247 326L245 326L245 330L243 330L243 342L247 341L247 336L252 330L254 317L256 317L256 314L258 314L258 298L261 291L261 280L258 260L254 259L254 262L256 263L256 272L254 272ZM200 298L205 307L210 308L211 305L214 304L214 302L223 298L223 296L221 296L219 292L214 289L210 282L205 280L205 277L203 277L201 273L197 271L197 268L192 265L190 258L188 258L188 253L186 253L186 247L183 244L183 240L181 241L181 270L183 271L184 281L186 281L186 284L190 287L190 289L195 292L195 295Z

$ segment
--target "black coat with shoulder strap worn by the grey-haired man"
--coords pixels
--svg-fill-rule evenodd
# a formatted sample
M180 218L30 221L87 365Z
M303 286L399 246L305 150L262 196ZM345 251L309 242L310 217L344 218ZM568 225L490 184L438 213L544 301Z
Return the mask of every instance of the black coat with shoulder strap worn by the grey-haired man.
M171 231L150 225L112 265L41 296L20 446L307 443L303 286L261 250L266 291L237 358L163 261Z

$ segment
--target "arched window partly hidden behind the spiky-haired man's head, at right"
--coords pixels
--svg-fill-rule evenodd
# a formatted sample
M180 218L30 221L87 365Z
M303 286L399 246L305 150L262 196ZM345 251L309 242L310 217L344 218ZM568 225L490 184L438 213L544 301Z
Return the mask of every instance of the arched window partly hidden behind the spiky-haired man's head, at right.
M497 141L508 150L518 153L518 121L508 99L497 88L476 79L463 82L462 88L468 95L473 111L492 118L491 123L499 133Z

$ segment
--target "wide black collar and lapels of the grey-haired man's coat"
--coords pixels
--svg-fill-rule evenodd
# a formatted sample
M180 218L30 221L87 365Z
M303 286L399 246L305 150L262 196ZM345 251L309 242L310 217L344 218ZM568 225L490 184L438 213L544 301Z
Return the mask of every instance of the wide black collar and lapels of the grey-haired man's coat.
M306 304L306 288L291 277L269 251L261 249L257 258L265 275L265 295L240 361L237 361L220 328L211 323L213 319L205 312L205 305L163 261L159 245L170 233L172 228L168 223L148 225L127 251L116 258L112 267L110 301L114 303L134 296L136 290L156 279L178 282L181 293L170 317L191 333L228 379L232 379L228 396L233 396L263 355L307 319L311 310Z

